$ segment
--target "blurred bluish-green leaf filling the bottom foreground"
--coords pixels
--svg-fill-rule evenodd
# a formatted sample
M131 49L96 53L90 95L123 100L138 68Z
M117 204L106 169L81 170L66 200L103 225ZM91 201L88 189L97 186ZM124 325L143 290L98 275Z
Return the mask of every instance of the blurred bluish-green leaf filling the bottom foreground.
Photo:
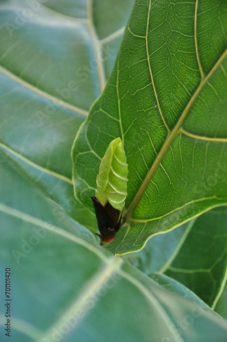
M1 177L0 283L10 267L13 341L224 341L227 322L183 285L96 246L11 159ZM2 302L0 311L3 328Z

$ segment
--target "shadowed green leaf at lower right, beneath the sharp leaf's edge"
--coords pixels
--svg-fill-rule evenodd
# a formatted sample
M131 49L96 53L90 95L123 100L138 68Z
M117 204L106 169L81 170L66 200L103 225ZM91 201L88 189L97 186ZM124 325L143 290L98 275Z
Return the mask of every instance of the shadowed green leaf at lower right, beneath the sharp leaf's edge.
M126 257L146 274L178 280L215 308L227 276L226 221L226 207L212 209Z

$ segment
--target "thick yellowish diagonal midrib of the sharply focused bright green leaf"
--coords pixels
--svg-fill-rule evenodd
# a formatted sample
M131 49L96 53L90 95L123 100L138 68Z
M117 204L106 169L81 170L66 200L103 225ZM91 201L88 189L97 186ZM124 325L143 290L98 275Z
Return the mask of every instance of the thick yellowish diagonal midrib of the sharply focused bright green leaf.
M146 175L142 185L139 187L139 190L137 191L137 194L135 194L135 197L133 198L133 201L131 202L131 205L129 205L129 208L126 210L126 213L124 214L124 222L129 220L131 218L131 215L133 215L133 212L135 211L137 204L139 203L139 200L142 198L146 187L148 186L148 183L150 183L150 179L152 179L152 176L155 174L157 168L159 167L159 164L161 163L161 160L165 156L165 153L167 153L168 148L170 147L170 144L174 141L175 137L178 135L178 133L181 132L181 126L187 117L187 114L189 113L193 103L196 101L196 98L198 98L198 95L200 94L202 88L206 85L206 83L209 81L215 70L222 64L224 59L226 58L227 50L224 51L221 57L219 57L219 60L215 63L211 71L208 75L202 81L200 82L200 85L198 86L196 92L194 92L193 96L191 96L191 99L187 106L185 107L183 113L181 114L178 122L176 123L176 126L174 129L170 132L170 135L166 138L165 142L163 143L163 146L161 150L159 151L154 163L152 164L150 170L148 171L148 174Z

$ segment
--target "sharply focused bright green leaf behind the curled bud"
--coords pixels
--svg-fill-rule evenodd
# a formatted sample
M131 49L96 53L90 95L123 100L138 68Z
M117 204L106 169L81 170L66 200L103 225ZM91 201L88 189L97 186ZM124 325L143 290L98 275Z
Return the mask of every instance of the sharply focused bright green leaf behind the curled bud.
M90 211L98 166L121 137L126 224L108 248L147 239L227 202L226 1L136 1L113 73L72 148L76 196Z

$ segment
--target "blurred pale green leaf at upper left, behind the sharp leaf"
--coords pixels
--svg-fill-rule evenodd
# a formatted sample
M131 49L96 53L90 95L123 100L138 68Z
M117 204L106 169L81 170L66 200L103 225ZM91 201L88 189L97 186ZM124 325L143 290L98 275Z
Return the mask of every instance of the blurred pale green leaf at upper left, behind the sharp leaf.
M93 231L94 215L73 194L70 149L109 77L132 3L123 1L111 25L99 15L109 1L0 3L0 148L59 210Z

